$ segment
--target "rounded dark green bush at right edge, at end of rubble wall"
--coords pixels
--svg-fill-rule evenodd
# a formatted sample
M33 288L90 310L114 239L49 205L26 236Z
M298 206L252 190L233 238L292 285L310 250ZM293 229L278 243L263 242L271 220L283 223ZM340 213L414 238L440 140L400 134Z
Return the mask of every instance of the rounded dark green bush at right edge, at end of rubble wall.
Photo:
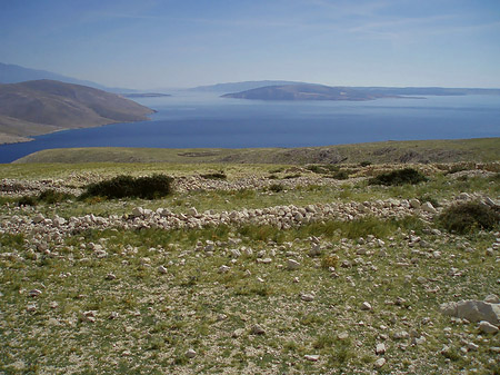
M438 223L448 231L468 234L474 230L491 230L499 226L500 209L479 201L469 201L447 208Z

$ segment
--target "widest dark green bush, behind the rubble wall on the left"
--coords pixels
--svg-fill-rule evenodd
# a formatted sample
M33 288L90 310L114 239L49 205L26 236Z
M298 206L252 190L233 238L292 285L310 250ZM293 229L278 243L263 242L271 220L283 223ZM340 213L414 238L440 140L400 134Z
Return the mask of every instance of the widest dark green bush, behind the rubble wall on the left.
M117 176L109 180L90 184L82 198L107 197L154 199L172 193L172 178L164 175L151 177Z

